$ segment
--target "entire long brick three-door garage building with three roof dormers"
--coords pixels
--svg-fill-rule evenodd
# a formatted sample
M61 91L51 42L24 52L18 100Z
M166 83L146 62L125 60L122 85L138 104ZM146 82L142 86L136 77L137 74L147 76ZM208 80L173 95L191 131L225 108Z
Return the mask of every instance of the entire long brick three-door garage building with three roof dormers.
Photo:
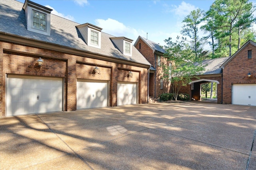
M0 117L148 102L151 64L126 37L0 1Z

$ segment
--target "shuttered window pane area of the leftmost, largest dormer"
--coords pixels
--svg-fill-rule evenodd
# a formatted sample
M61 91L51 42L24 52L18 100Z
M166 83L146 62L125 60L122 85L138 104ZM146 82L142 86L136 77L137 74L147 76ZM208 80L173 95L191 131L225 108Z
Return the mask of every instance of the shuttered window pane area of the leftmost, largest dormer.
M46 14L33 10L33 27L46 31Z

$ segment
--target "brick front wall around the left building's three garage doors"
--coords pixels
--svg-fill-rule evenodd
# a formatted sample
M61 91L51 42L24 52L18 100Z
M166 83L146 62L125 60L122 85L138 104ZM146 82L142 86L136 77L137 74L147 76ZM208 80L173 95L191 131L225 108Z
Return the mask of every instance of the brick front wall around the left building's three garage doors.
M33 67L39 57L47 63L49 69L38 70ZM90 74L96 65L100 68L100 74ZM127 76L130 70L133 72L132 78ZM8 74L64 78L64 111L76 110L77 79L109 81L108 106L117 105L118 82L136 82L138 103L148 101L148 68L93 59L86 53L78 56L0 42L0 117L6 116L6 76Z

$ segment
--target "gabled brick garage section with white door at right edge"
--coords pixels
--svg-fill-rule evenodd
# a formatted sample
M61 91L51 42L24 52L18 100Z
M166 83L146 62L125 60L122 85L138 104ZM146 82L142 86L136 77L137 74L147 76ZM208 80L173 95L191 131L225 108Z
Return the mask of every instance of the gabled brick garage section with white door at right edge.
M256 106L256 43L247 41L220 68L222 103Z

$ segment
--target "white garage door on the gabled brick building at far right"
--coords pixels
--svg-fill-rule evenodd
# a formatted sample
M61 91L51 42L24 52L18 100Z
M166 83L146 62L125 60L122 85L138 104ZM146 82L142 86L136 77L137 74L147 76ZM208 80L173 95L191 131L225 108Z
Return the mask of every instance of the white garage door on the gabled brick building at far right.
M256 106L256 84L233 84L232 104Z

